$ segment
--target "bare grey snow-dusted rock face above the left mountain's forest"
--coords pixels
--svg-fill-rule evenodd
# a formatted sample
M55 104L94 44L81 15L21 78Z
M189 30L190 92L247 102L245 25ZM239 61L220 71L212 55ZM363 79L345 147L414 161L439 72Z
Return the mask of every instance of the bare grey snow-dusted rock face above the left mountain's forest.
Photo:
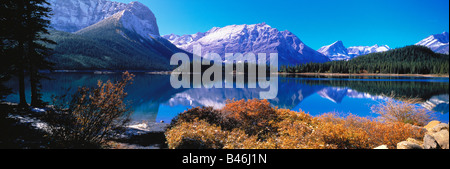
M107 0L50 0L49 2L53 9L50 26L55 30L76 32L125 11L128 14L124 16L133 16L133 18L124 18L124 25L134 28L136 32L148 31L159 36L153 12L139 2L129 4Z

